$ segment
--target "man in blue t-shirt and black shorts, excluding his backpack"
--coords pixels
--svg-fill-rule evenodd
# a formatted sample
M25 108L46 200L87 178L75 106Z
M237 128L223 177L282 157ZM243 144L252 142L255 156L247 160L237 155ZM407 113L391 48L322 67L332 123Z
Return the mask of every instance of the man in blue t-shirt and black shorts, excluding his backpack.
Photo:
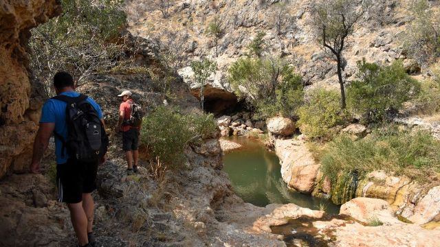
M80 95L74 91L72 75L66 72L56 73L54 87L57 95L68 97ZM95 108L102 124L104 124L100 106L90 97L87 98L87 101ZM58 99L48 99L45 102L39 130L34 141L34 153L30 165L32 173L39 173L41 159L53 132L60 134L63 139L67 139L66 106L66 102ZM69 158L63 149L61 139L58 137L55 137L55 154L58 201L67 203L80 246L94 246L92 231L94 200L91 197L91 192L96 189L98 163L79 163L74 158ZM104 160L101 162L103 163Z

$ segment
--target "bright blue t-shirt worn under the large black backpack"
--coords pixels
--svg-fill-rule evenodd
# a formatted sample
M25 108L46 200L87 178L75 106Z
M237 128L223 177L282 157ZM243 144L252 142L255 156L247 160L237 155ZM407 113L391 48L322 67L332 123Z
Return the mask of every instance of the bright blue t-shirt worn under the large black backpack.
M63 92L60 95L66 95L69 97L78 97L80 93L75 91L67 91ZM87 98L87 101L94 106L96 112L100 119L102 119L102 111L96 102L90 97ZM67 103L58 99L48 99L44 106L43 110L41 110L41 119L40 123L55 123L55 132L60 134L64 139L67 139L67 124L66 124L66 106ZM64 156L61 155L61 151L63 148L63 143L60 139L55 137L55 155L56 155L56 163L64 164L67 162L67 158L69 155L66 153Z

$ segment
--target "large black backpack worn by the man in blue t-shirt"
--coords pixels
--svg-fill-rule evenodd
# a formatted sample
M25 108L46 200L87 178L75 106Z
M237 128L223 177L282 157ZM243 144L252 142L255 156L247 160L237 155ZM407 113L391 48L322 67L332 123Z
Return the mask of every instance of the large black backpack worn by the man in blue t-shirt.
M58 95L52 99L67 103L67 139L55 132L56 137L63 143L61 154L65 155L67 151L70 158L85 163L100 161L107 152L109 137L94 106L87 101L87 96Z

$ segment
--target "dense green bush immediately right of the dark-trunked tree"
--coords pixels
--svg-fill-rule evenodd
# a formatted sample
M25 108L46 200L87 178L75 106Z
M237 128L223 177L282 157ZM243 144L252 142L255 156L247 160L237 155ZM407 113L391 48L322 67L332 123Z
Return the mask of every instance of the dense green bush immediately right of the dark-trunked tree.
M381 67L365 60L358 61L359 80L347 86L349 109L362 115L366 122L382 121L388 110L397 110L420 90L401 61Z

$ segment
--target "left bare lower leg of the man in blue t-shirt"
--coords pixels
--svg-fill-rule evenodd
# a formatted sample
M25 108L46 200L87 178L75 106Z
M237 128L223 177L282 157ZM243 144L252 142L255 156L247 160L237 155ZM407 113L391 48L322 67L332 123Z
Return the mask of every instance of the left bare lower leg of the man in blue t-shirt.
M89 243L87 238L87 215L83 209L83 202L67 203L70 211L70 220L81 246Z

